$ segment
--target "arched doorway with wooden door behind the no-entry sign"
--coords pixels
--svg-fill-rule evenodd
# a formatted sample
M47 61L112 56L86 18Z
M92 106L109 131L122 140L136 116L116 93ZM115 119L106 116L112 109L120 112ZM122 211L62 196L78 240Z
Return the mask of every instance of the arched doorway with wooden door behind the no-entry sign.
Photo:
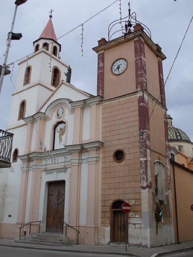
M125 222L124 212L121 210L121 205L125 203L124 200L115 200L111 204L111 228L110 240L111 242L124 243L125 242ZM128 219L126 222L126 233L128 238Z

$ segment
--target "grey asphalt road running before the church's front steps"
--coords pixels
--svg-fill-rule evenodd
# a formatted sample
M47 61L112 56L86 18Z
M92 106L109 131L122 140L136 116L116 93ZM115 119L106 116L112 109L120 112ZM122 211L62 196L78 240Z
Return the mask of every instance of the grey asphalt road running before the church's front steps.
M92 253L71 253L60 251L48 251L39 249L28 249L20 247L0 246L0 257L104 257L106 254ZM120 257L120 255L111 255L112 257Z

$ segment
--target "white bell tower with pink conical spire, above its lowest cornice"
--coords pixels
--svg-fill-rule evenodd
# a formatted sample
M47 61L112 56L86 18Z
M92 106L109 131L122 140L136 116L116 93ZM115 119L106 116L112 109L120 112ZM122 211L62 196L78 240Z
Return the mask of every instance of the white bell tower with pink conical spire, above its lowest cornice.
M33 53L18 64L8 129L22 124L24 117L38 112L60 82L66 81L65 72L69 66L60 60L61 45L57 42L52 15L33 46Z

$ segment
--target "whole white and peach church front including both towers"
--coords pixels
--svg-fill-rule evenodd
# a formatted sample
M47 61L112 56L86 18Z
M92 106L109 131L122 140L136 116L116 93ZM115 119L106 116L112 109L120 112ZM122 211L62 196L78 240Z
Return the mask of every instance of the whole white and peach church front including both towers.
M70 84L51 17L19 63L7 128L12 169L0 174L0 236L17 238L19 227L41 221L42 232L76 228L80 244L173 243L165 56L140 24L93 50L96 96ZM123 203L131 205L126 225ZM68 236L76 239L73 230Z

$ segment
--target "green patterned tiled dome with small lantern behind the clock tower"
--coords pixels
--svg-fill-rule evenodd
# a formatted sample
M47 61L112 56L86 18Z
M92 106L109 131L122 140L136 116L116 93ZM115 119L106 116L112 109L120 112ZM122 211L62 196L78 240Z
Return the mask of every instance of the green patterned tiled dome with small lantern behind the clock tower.
M183 132L179 128L175 128L172 126L172 118L170 115L167 115L167 121L168 121L168 137L169 140L177 140L177 141L189 141L189 137L186 135L185 132Z

